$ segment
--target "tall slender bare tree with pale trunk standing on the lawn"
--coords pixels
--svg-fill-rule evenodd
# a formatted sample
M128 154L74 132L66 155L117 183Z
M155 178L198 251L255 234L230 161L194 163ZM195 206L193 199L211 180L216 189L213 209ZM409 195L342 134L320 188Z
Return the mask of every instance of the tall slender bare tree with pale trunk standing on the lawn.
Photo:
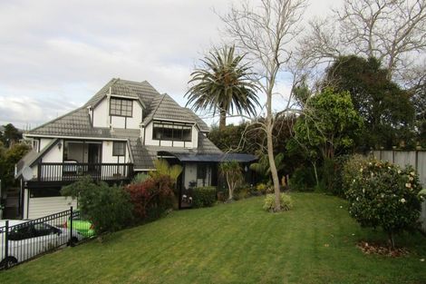
M221 18L226 24L227 34L244 50L258 66L257 83L266 95L266 122L258 122L266 132L266 150L272 180L274 181L276 206L280 206L280 184L274 161L273 135L277 115L290 112L291 93L286 108L273 113L272 99L276 95L279 74L289 71L292 58L291 44L301 33L300 22L305 12L305 0L261 0L259 5L246 1L232 6ZM298 79L294 74L293 86Z

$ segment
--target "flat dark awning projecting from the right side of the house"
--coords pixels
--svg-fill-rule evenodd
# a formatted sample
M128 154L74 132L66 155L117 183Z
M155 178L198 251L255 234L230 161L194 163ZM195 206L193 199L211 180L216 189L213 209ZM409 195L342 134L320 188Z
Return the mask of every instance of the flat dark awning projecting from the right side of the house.
M257 157L252 154L223 153L223 154L194 154L194 153L174 153L170 152L180 162L255 162Z

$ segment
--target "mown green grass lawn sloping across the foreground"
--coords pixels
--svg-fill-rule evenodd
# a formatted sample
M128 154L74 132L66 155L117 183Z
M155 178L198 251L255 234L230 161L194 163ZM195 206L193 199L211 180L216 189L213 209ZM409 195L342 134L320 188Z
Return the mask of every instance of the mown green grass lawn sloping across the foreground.
M397 240L409 256L363 255L358 240L385 236L360 228L343 200L293 199L293 211L276 214L262 198L174 211L0 272L0 283L426 283L421 234Z

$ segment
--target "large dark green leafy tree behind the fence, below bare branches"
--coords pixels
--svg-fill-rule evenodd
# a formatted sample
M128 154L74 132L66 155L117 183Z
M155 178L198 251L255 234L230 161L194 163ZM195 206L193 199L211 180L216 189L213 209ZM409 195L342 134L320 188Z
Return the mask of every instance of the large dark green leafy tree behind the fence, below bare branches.
M324 85L351 93L353 106L365 121L363 148L392 147L409 139L414 118L410 93L388 77L373 57L339 57L328 68Z

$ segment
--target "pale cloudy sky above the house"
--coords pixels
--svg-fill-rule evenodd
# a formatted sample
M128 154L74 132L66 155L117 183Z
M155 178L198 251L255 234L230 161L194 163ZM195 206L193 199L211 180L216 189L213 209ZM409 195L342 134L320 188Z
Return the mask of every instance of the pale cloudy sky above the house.
M336 0L316 1L305 18ZM34 127L112 77L149 81L185 105L189 73L220 42L229 0L0 0L0 124ZM286 82L279 85L286 93ZM210 119L208 122L215 122Z

